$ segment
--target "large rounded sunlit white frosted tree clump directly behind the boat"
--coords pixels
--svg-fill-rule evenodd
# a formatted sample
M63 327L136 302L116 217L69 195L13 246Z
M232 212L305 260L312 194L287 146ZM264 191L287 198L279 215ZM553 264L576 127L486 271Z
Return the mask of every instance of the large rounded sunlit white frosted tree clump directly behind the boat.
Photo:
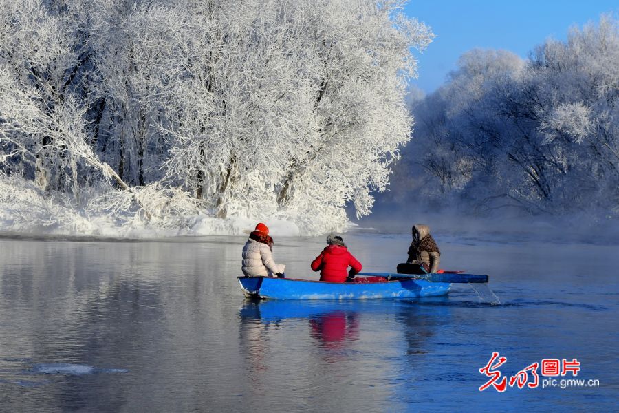
M431 39L424 25L393 17L398 6L221 6L190 46L201 57L170 91L190 120L168 129L168 178L196 187L219 216L262 210L327 226L343 222L349 201L367 214L369 191L384 189L411 127L409 49Z

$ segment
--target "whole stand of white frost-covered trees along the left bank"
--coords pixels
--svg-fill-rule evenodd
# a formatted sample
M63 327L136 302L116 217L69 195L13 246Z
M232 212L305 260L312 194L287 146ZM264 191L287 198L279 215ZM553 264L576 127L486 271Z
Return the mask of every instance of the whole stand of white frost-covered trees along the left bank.
M433 37L400 0L0 7L4 173L74 200L128 191L134 208L142 188L179 189L221 218L311 231L340 227L348 202L366 215L387 186L411 48Z

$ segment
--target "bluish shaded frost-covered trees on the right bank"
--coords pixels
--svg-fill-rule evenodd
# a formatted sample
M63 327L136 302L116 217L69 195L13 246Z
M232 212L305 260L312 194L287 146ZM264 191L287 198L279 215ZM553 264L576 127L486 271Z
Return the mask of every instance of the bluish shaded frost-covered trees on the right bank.
M448 83L414 105L417 139L406 151L417 158L398 174L412 174L432 200L484 213L616 215L618 61L609 16L546 41L526 61L464 54Z

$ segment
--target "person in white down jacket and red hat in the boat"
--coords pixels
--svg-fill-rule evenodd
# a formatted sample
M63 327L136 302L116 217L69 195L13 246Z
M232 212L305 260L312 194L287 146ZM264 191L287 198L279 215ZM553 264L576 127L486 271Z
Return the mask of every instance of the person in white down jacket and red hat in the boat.
M268 227L260 222L243 246L243 274L246 277L285 277L286 266L275 263L272 250L273 238L269 236Z

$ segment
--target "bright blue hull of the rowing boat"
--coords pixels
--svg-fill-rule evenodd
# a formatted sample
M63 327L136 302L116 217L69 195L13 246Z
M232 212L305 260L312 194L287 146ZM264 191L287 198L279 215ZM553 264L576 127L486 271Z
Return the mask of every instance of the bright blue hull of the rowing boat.
M261 299L378 299L437 297L451 284L423 279L340 283L274 277L237 277L246 297Z

